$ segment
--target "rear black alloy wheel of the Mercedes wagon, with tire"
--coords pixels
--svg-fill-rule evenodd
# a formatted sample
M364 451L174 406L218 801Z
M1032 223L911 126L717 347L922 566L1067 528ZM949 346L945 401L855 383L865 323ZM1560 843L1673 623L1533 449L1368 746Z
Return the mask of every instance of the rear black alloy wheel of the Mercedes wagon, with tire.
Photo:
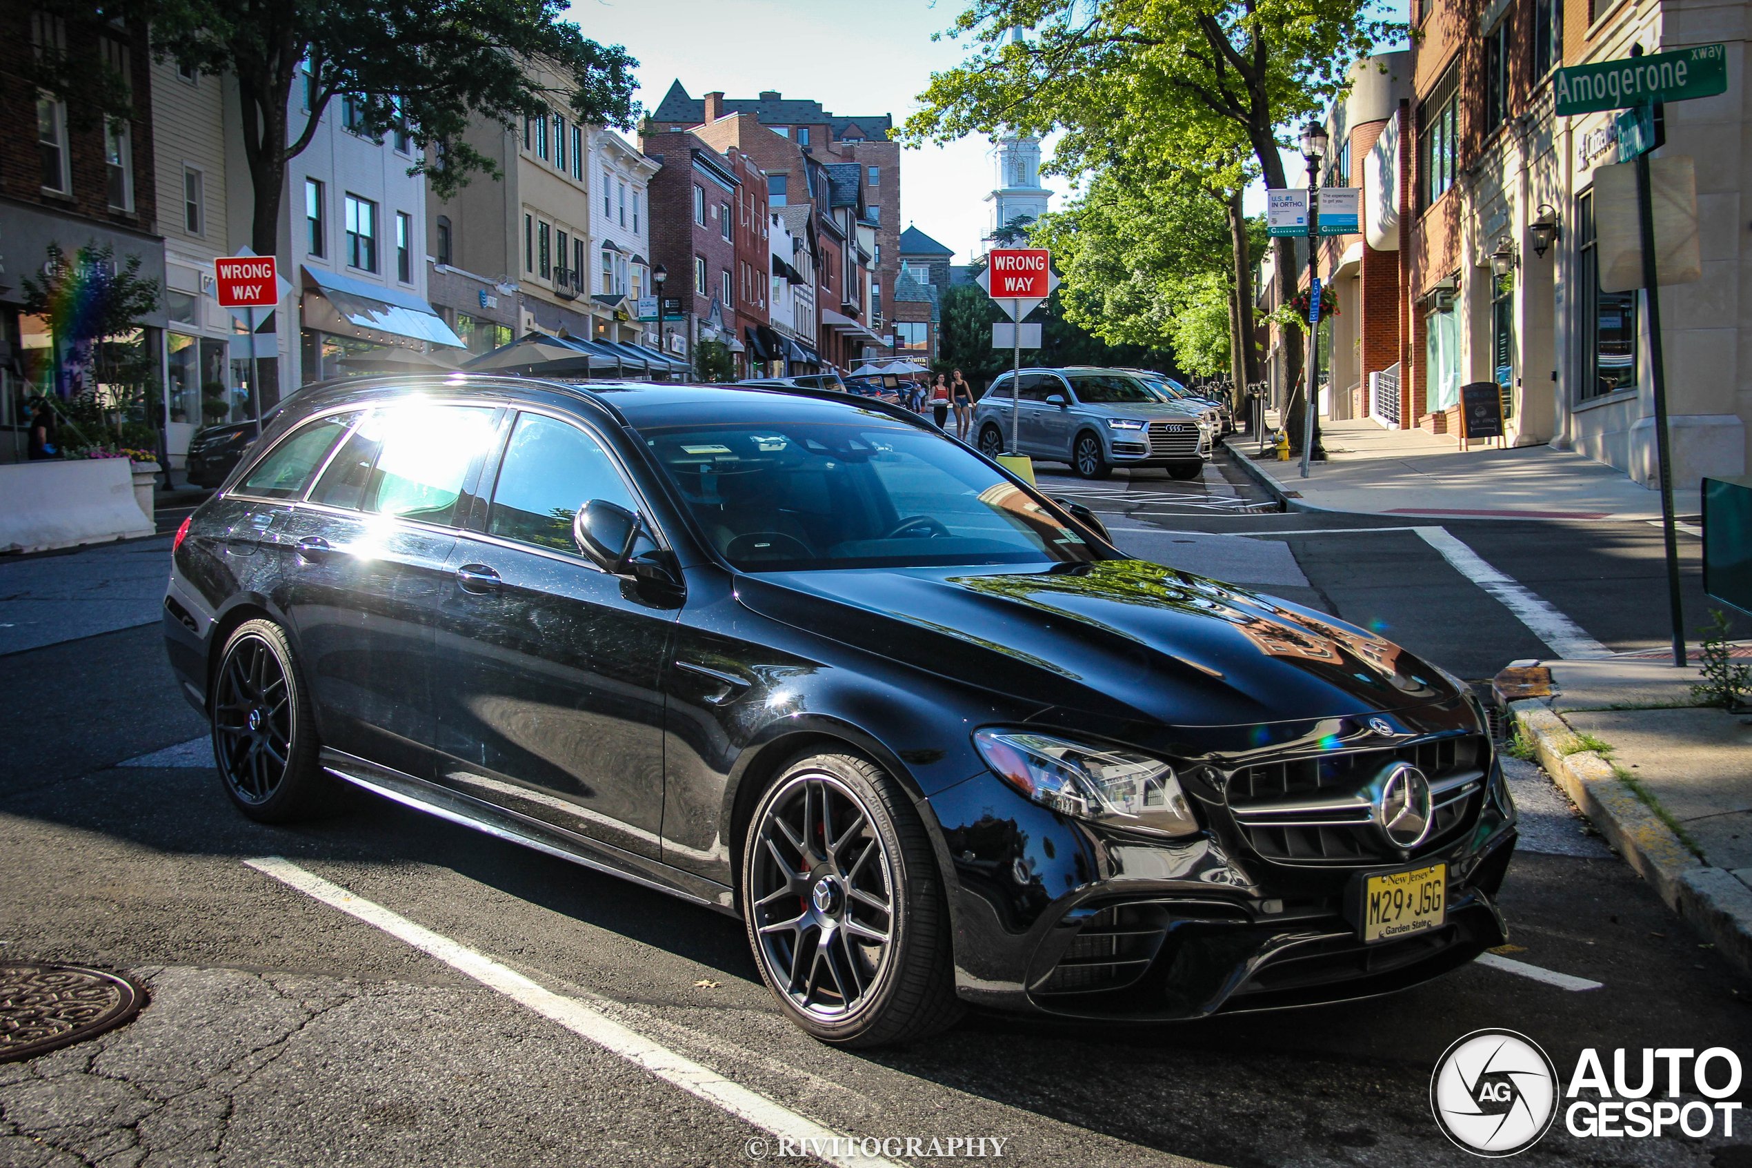
M214 760L226 795L251 820L286 823L328 809L335 783L317 762L310 692L286 632L247 620L214 674Z

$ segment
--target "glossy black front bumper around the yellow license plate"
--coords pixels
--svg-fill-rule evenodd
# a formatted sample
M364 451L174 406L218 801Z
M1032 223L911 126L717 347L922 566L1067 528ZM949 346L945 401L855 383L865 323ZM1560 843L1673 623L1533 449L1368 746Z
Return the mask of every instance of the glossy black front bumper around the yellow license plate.
M1445 923L1365 946L1344 912L1351 881L1393 863L1268 860L1228 827L1142 841L1030 804L995 776L969 779L930 800L953 865L958 993L1006 1010L1177 1021L1438 977L1507 940L1494 897L1514 809L1494 774L1477 799L1416 856L1447 863Z

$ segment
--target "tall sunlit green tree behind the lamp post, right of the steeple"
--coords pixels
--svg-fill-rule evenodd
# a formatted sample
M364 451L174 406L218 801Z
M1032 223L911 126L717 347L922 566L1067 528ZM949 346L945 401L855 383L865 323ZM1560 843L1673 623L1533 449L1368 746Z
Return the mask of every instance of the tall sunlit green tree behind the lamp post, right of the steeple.
M1319 112L1353 60L1405 32L1374 12L1374 0L972 0L950 30L971 39L967 60L932 75L902 137L1062 130L1060 173L1169 163L1212 189L1240 186L1228 172L1251 151L1265 184L1284 187L1281 130ZM1232 205L1239 212L1239 200ZM1232 221L1237 273L1246 243L1244 224ZM1296 280L1288 240L1275 257L1288 301ZM1298 369L1300 343L1286 340Z

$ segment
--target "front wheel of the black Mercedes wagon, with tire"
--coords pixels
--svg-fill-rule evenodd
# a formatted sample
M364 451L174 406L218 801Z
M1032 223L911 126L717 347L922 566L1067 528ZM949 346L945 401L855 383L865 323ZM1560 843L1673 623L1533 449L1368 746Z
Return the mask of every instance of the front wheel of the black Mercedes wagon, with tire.
M741 897L760 977L822 1042L911 1042L960 1017L930 839L874 763L785 767L748 825Z

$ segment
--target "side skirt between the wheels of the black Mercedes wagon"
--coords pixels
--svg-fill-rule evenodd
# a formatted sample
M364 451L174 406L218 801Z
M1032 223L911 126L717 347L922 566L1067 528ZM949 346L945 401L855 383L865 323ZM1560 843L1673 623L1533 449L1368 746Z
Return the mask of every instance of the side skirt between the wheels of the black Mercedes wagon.
M541 823L515 811L471 799L450 788L417 779L375 762L324 746L322 769L357 788L382 795L392 802L434 814L450 823L471 827L512 844L533 848L561 860L582 863L587 869L618 876L624 881L653 888L671 897L703 904L727 916L738 916L731 890L717 881L701 879L666 863L631 856L601 841L576 835L550 823Z

